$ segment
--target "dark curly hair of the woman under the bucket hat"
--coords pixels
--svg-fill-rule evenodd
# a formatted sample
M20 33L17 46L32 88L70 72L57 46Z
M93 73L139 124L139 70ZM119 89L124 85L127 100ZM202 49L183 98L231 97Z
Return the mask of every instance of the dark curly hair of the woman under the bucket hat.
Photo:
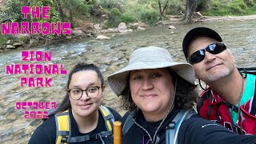
M175 86L175 82L177 83L174 106L180 109L192 109L195 106L195 104L198 102L198 91L195 89L197 86L194 86L190 82L187 82L185 79L183 79L178 74L176 74L174 70L171 70L171 69L167 69L167 70L172 76L174 86ZM121 94L121 102L122 102L121 105L125 110L133 111L137 109L137 106L135 105L135 103L131 98L129 77L127 79L126 88L125 90L122 91L122 94Z

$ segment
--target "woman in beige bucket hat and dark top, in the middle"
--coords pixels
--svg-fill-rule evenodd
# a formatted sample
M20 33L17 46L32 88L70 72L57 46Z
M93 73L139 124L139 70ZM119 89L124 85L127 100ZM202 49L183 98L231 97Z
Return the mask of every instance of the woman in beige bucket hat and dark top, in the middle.
M174 62L165 49L134 50L128 65L108 82L129 110L122 121L125 144L256 142L256 136L234 134L196 114L194 68Z

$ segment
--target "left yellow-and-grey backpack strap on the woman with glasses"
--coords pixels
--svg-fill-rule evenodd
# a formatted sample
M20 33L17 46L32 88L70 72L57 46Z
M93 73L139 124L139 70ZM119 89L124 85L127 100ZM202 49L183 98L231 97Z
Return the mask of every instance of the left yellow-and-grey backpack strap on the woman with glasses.
M67 142L70 137L70 115L69 110L55 114L56 123L56 144Z

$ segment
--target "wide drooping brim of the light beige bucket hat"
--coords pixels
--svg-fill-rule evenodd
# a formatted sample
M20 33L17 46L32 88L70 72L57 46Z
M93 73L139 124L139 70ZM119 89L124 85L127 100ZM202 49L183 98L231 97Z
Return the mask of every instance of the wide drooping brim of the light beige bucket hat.
M126 88L128 83L128 76L131 70L145 70L145 69L159 69L159 68L171 68L180 77L196 85L194 82L194 68L189 63L183 62L137 62L130 64L121 70L118 70L114 74L110 74L107 78L111 89L118 96L122 94L122 91Z

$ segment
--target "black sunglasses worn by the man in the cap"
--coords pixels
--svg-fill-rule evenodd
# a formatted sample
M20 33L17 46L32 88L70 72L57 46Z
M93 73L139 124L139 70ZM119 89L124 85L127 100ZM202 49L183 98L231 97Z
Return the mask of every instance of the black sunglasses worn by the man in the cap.
M208 51L210 54L219 54L223 50L226 50L226 45L223 42L212 43L207 46L205 49L198 50L190 55L189 62L190 64L202 62L205 58L205 53Z

